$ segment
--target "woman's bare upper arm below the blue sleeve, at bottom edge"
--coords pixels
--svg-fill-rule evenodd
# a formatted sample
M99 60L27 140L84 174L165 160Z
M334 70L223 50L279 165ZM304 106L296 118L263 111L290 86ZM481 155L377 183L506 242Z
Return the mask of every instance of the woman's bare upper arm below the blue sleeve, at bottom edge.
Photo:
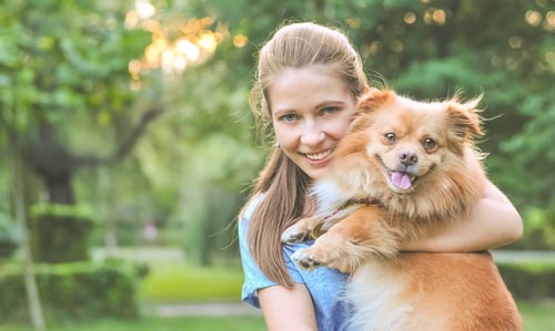
M304 285L259 290L259 300L269 331L317 330L312 298Z

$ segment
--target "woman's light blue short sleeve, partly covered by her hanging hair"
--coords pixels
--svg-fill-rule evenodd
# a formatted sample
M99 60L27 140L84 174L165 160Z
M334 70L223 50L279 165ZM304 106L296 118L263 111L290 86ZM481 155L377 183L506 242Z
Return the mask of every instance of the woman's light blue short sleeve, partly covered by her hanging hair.
M256 205L262 199L262 196L254 198L250 206L246 207L243 217L239 219L239 250L241 254L241 263L243 266L244 282L242 288L242 300L251 306L260 308L258 291L268 287L276 286L278 283L270 280L254 261L249 245L246 242L246 232L251 216L256 208ZM284 252L285 254L285 252ZM303 282L303 279L296 270L293 261L284 256L286 268L292 277L293 282Z

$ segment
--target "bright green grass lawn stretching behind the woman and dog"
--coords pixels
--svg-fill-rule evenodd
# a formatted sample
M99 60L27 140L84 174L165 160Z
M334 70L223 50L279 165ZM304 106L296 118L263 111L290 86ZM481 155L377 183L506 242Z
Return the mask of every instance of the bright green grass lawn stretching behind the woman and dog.
M151 251L149 250L149 254ZM173 255L172 258L170 258ZM150 272L139 285L144 313L138 320L98 319L47 325L48 331L251 331L265 330L260 316L175 317L162 318L154 313L159 303L238 302L243 280L238 263L210 268L193 267L184 259L175 259L175 251L161 250L154 255L134 251L131 260L145 262ZM149 258L145 258L149 257ZM129 256L127 256L129 258ZM525 331L555 330L555 301L518 302ZM0 331L32 331L29 325L6 324Z

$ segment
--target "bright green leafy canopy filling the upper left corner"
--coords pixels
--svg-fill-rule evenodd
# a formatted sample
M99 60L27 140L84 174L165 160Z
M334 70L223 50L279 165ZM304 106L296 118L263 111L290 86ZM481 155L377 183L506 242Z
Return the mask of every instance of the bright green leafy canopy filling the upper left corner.
M132 101L128 62L142 53L148 34L122 27L124 3L99 3L2 2L3 125L63 124L73 113L111 113Z

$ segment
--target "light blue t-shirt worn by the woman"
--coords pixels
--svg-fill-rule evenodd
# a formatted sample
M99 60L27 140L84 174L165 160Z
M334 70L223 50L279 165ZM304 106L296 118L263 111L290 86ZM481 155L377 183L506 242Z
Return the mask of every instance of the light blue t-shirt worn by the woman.
M239 220L239 246L244 271L242 299L256 308L260 308L258 290L276 285L274 281L268 279L259 269L246 245L249 221L261 198L262 196L253 199L251 205L245 209L242 219ZM293 255L295 250L307 247L312 245L312 242L313 241L305 241L284 245L283 257L285 265L293 282L303 283L309 289L314 303L319 331L347 330L349 309L345 301L340 299L347 275L336 269L325 267L316 268L312 272L306 271L291 260L291 255Z

